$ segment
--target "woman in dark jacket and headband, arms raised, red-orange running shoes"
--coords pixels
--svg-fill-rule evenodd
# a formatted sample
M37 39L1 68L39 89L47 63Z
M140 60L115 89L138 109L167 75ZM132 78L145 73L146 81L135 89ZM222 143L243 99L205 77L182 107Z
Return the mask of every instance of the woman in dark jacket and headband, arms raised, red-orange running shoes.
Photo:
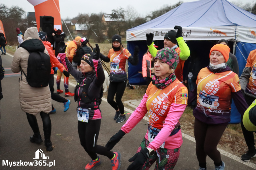
M120 168L120 152L112 152L101 145L97 145L100 132L102 84L105 80L104 71L99 61L100 48L96 44L96 53L88 52L81 58L81 71L74 69L65 53L59 53L61 62L67 71L78 80L75 88L77 101L78 135L84 150L91 157L91 162L85 170L93 169L101 164L97 154L107 156L112 163L112 170Z

